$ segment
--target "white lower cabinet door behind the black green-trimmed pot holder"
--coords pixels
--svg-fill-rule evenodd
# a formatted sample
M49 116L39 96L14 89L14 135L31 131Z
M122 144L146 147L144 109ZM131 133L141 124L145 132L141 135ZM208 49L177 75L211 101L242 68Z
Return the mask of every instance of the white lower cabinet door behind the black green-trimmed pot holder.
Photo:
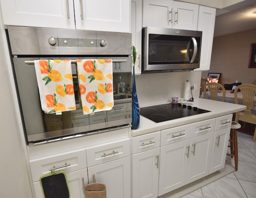
M66 174L70 198L84 198L84 186L88 184L87 168ZM44 198L40 181L34 182L36 198Z

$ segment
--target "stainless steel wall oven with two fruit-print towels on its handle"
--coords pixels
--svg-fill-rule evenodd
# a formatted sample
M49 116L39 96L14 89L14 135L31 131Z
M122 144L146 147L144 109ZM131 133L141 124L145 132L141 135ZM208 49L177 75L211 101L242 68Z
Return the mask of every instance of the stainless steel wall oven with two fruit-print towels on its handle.
M106 131L130 127L131 118L115 121L106 119L103 111L102 122L95 122L95 115L83 115L78 103L78 83L76 59L112 59L115 67L130 67L131 34L83 30L61 30L50 28L31 28L8 26L16 90L19 96L20 112L23 119L24 134L28 145L48 143L67 138L80 137ZM73 121L70 111L63 112L63 129L46 127L46 114L42 111L34 60L71 59L72 75L76 98L76 115L83 117L82 124L69 125ZM114 70L113 70L114 71ZM72 111L73 112L73 111ZM100 112L99 112L100 113ZM87 116L87 117L86 117ZM90 119L91 118L91 119ZM87 121L88 120L88 121ZM93 120L94 122L90 122ZM56 123L57 124L57 123ZM55 122L53 122L55 125ZM66 125L66 126L64 126Z

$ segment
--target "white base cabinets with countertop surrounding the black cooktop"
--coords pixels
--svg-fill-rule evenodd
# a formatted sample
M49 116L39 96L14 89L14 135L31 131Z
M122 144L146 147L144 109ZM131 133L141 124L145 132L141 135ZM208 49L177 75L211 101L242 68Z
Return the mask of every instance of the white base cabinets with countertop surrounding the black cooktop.
M232 113L246 106L208 99L193 106L210 112L160 123L140 116L131 131L132 197L180 197L224 168Z

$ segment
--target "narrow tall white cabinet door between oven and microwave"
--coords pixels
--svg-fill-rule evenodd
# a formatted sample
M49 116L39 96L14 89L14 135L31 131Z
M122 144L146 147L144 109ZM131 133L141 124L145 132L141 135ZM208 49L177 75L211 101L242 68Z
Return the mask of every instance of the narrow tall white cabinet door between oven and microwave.
M136 48L135 74L141 74L141 35L142 35L142 0L132 0L131 4L132 45ZM133 70L132 70L133 72Z

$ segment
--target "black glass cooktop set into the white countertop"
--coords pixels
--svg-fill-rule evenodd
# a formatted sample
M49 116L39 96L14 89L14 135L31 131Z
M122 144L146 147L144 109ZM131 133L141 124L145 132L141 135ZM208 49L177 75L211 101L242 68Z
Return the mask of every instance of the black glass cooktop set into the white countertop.
M163 104L154 105L150 107L140 108L140 115L154 121L155 123L160 123L168 120L173 120L177 118L187 117L191 115L197 115L201 113L207 113L210 111L199 109L197 107L192 107L185 104Z

